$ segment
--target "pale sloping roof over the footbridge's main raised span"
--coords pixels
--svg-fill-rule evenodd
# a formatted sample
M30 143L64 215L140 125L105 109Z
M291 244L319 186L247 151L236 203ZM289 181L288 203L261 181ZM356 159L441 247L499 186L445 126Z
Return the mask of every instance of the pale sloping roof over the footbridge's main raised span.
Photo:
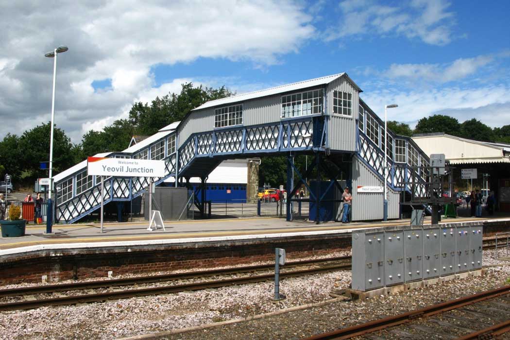
M336 80L336 79L338 79L338 78L340 78L342 76L345 76L346 79L358 91L362 92L360 87L358 85L356 85L349 78L347 73L342 72L342 73L327 75L327 76L320 77L320 78L305 80L305 81L301 81L301 82L297 82L297 83L276 86L276 87L272 87L270 89L265 89L265 90L259 90L259 91L239 94L237 96L226 97L226 98L221 98L221 99L216 99L216 100L210 100L208 102L205 102L205 103L201 104L199 107L193 109L192 111L201 110L201 109L207 109L207 108L211 108L211 107L215 107L215 106L219 106L219 105L234 103L234 102L248 100L248 99L255 99L255 98L270 96L270 95L278 94L278 93L284 93L284 92L289 92L289 91L296 91L296 90L306 89L306 88L310 88L310 87L314 87L314 86L319 86L319 85L326 85L326 84L329 84L329 83L333 82L334 80Z

